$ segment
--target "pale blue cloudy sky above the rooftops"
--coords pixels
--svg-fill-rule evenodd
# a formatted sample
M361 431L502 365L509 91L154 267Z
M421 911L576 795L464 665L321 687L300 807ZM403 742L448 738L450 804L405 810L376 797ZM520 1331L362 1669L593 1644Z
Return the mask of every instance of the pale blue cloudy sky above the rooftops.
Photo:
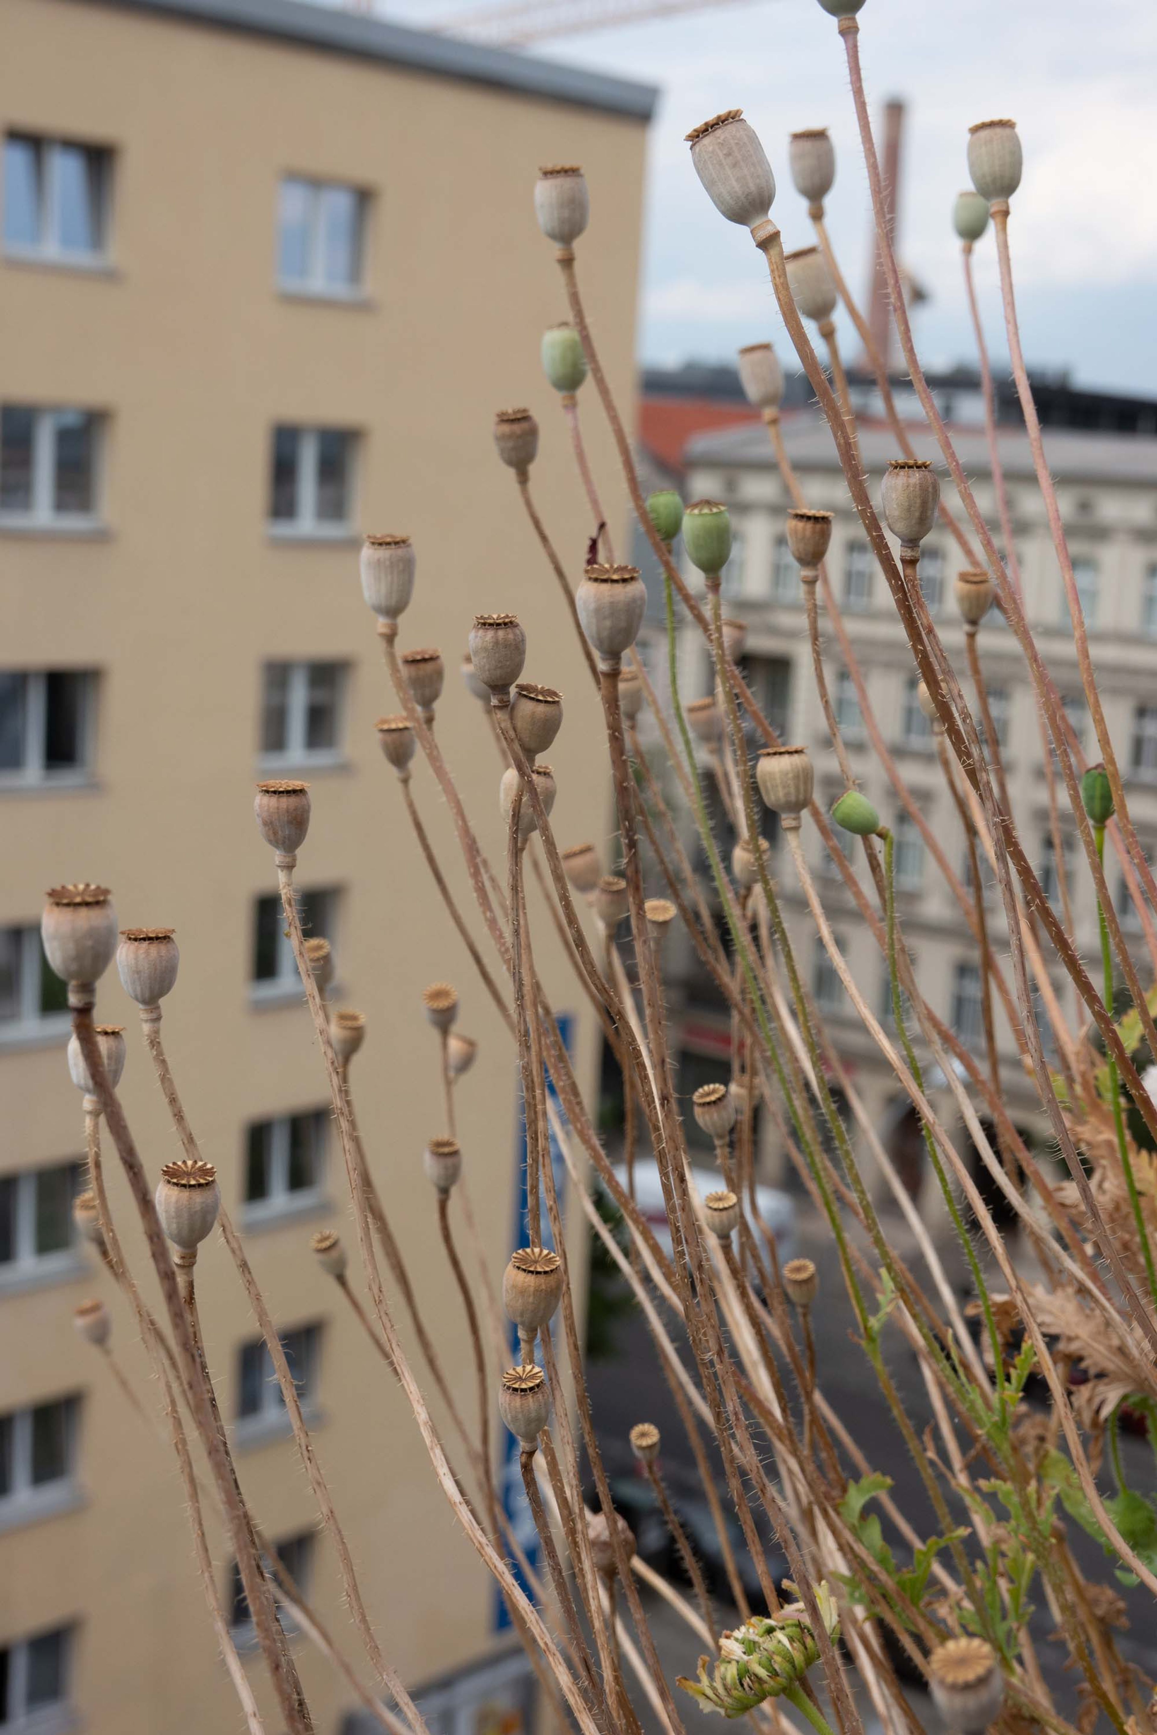
M376 7L418 26L467 9L465 0ZM1011 116L1025 151L1010 232L1029 364L1069 370L1081 385L1157 394L1152 0L867 0L859 19L874 115L893 95L907 104L899 250L930 295L914 316L925 366L973 356L951 210L968 186L970 123ZM534 52L661 87L645 194L644 361L730 359L767 337L786 344L762 259L746 231L715 212L683 144L690 127L720 109L742 108L763 141L779 182L772 215L788 250L812 241L788 174L788 135L831 130L829 231L848 281L864 293L867 180L843 45L817 0L741 0L555 38ZM1006 354L990 234L977 246L975 271L992 352Z

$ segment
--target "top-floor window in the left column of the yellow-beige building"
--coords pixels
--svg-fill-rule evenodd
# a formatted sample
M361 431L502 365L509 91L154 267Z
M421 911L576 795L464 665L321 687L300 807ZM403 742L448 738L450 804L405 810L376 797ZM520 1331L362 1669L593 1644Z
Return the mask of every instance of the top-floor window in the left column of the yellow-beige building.
M10 132L3 141L3 250L90 265L108 246L109 151Z

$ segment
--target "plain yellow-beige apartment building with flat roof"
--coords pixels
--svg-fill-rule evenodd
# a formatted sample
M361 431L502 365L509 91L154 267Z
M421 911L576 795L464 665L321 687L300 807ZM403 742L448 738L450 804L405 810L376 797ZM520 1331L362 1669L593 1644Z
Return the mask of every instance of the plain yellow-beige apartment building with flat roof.
M127 1310L71 1230L83 1126L36 933L43 890L62 880L113 887L125 925L177 930L173 1069L297 1369L385 1652L413 1688L439 1683L439 1707L449 1693L468 1709L468 1693L454 1699L463 1666L486 1660L491 1685L503 1674L493 1588L376 1352L309 1253L314 1230L347 1223L343 1176L252 795L260 776L312 786L304 920L333 944L337 1003L368 1015L354 1091L369 1162L472 1412L468 1338L420 1161L444 1131L423 985L456 982L461 1027L480 1043L460 1131L494 1272L515 1234L515 1065L378 751L375 718L397 704L357 548L366 529L415 536L402 645L446 656L439 736L486 845L501 848L498 762L456 675L482 609L515 609L527 673L565 691L557 814L574 836L600 836L604 782L578 748L593 697L491 420L522 403L539 415L538 503L578 560L585 505L538 361L565 305L531 193L539 163L586 168L581 265L628 399L652 97L295 0L3 9L0 1730L203 1735L238 1721L175 1464L71 1324L88 1294L108 1300L114 1355L156 1411ZM612 474L595 427L590 439ZM415 793L470 907L420 770ZM550 940L538 946L548 985L578 1013ZM123 1098L156 1173L177 1147L114 972L97 1010L128 1027ZM572 1029L593 1081L593 1032L585 1017ZM198 1282L258 1523L356 1655L269 1359L215 1242ZM267 1711L217 1527L210 1541ZM354 1695L293 1643L317 1730L340 1728ZM520 1700L498 1704L515 1730Z

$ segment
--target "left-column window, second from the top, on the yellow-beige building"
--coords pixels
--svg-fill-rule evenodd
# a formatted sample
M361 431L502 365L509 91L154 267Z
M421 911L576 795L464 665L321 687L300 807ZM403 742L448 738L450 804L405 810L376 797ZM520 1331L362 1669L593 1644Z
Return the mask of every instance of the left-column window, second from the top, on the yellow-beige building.
M83 529L97 519L101 418L88 409L0 409L0 524Z

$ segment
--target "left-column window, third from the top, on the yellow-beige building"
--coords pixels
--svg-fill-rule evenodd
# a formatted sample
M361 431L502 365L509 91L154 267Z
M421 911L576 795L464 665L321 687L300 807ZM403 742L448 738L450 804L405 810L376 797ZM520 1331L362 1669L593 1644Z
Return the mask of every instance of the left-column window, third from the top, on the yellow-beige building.
M90 670L0 670L0 788L83 782L94 696Z

